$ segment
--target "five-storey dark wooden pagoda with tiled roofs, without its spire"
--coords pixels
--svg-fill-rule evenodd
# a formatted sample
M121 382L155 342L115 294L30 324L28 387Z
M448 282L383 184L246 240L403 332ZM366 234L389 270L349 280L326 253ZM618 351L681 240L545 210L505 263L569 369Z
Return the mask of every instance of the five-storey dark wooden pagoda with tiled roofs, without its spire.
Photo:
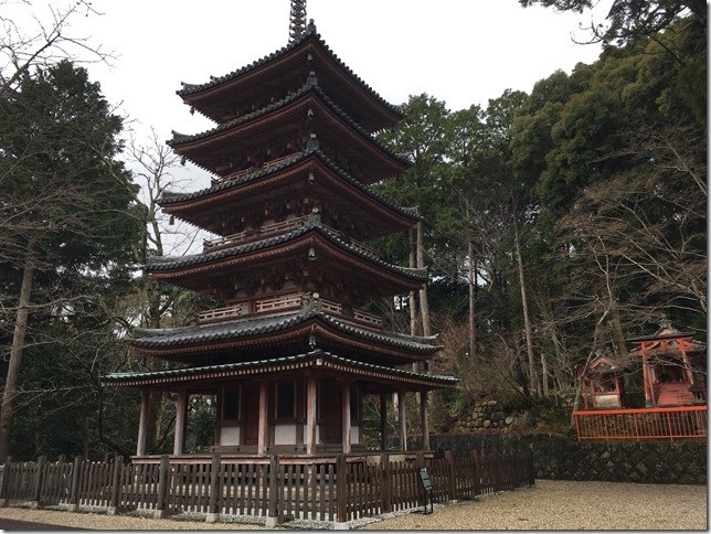
M384 450L393 394L405 450L403 399L416 393L428 449L428 393L457 380L412 371L437 352L436 337L390 331L367 311L427 279L363 243L420 221L369 189L410 164L374 137L400 108L346 66L312 21L282 50L178 95L216 126L173 132L169 145L214 178L200 191L165 192L160 205L216 237L200 254L152 257L146 270L220 307L189 327L136 329L136 353L174 369L103 378L141 391L137 455L147 453L155 392L177 394L174 455L184 453L191 395L215 398L215 451L264 456L364 449L368 396L380 403Z

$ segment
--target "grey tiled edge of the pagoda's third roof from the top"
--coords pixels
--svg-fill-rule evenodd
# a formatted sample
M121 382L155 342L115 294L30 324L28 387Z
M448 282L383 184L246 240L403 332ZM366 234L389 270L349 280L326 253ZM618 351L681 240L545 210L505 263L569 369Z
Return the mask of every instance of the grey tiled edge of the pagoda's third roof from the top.
M161 196L158 199L158 204L161 206L168 206L170 204L177 204L180 202L185 202L190 200L197 200L201 199L203 196L208 196L214 193L219 193L222 191L229 191L231 189L237 188L244 183L248 182L254 182L257 181L264 177L267 175L273 175L278 172L280 172L284 169L287 169L296 163L299 163L306 159L308 159L311 154L316 156L323 164L326 164L331 171L333 171L336 174L338 174L343 181L348 182L359 191L365 193L368 196L373 199L374 201L379 202L380 204L383 204L388 206L391 210L396 211L401 215L404 215L412 221L422 221L422 216L417 214L417 209L415 207L400 207L392 202L390 202L388 199L384 196L375 193L373 190L361 183L360 181L355 180L353 177L351 177L346 170L341 169L336 162L333 162L330 158L328 158L321 150L319 149L306 149L301 152L296 152L293 156L285 158L283 161L280 161L277 164L270 165L267 169L256 169L254 172L250 172L245 175L242 175L235 180L222 180L222 181L215 181L210 188L205 188L199 191L193 191L189 193L180 193L180 192L171 192L171 191L163 191L161 193Z

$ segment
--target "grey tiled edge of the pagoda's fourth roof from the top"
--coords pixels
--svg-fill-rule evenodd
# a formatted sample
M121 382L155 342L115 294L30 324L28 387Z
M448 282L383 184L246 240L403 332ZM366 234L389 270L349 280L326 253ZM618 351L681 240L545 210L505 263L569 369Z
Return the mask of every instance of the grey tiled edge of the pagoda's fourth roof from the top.
M296 228L291 232L277 235L274 237L268 237L266 239L261 239L252 243L246 243L244 245L236 245L232 248L225 248L222 250L215 250L211 253L202 254L190 254L184 256L149 256L148 264L146 268L151 271L156 270L173 270L184 267L190 267L194 265L205 264L210 261L216 261L234 256L240 256L245 253L262 250L272 246L282 245L288 243L293 239L296 239L309 232L317 232L321 237L337 247L349 252L353 256L357 256L361 259L370 261L379 267L382 267L391 273L396 273L397 275L404 276L411 280L425 281L427 279L427 269L426 268L413 268L413 267L401 267L399 265L389 264L382 259L372 256L362 252L360 248L346 243L344 241L330 234L321 226L318 217L311 218L306 222L306 224L299 228Z

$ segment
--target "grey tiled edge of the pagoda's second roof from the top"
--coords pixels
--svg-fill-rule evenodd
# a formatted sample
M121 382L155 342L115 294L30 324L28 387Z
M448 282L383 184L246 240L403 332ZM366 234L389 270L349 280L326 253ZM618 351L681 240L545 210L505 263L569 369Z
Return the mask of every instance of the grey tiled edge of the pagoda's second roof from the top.
M173 138L166 141L170 147L176 148L179 145L183 143L189 143L193 141L199 141L201 139L206 139L211 136L214 136L215 134L220 134L222 131L227 131L236 126L243 125L245 122L248 122L251 120L254 120L256 118L259 118L262 116L268 115L269 113L283 108L287 106L288 104L296 102L299 99L301 96L314 93L321 98L321 100L336 114L338 117L340 117L346 124L348 124L354 131L360 134L361 137L364 139L368 139L369 142L378 147L381 151L386 153L389 157L391 157L393 160L402 163L403 165L410 167L411 161L408 160L407 157L405 156L399 156L393 153L388 147L382 145L380 141L378 141L370 132L368 132L365 129L363 129L358 122L355 122L343 109L341 109L333 100L331 100L326 93L318 86L317 83L312 82L307 82L293 93L291 95L282 98L278 102L275 102L274 104L269 104L268 106L265 106L261 109L257 109L255 111L248 113L246 115L243 115L242 117L237 117L235 119L229 120L226 122L223 122L221 125L215 126L214 128L211 128L209 130L202 131L200 134L194 134L194 135L187 135L187 134L179 134L177 131L173 131Z

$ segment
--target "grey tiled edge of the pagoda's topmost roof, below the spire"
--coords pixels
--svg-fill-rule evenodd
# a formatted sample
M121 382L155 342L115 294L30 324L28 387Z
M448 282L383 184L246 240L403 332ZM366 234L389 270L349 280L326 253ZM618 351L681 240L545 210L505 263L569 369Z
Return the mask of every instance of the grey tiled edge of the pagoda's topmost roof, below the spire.
M225 82L230 82L232 79L235 79L240 76L243 76L245 74L248 74L263 65L278 60L279 57L285 56L289 52L291 52L295 49L298 49L304 43L308 41L315 41L320 45L320 47L328 54L331 61L336 63L339 67L341 67L348 75L361 87L363 88L370 96L372 96L376 102L379 102L381 105L400 116L401 118L403 117L403 111L402 111L402 106L396 106L393 104L390 104L386 102L382 96L380 96L370 85L368 85L363 79L361 79L348 65L346 65L333 51L329 47L328 44L321 39L321 35L316 32L316 26L314 24L309 24L307 26L306 32L299 38L287 44L286 46L283 46L282 49L277 50L276 52L273 52L268 55L265 55L261 60L256 60L248 65L243 66L242 68L237 68L236 71L232 71L231 73L227 73L223 76L214 76L211 77L210 82L205 84L187 84L182 83L182 89L179 89L176 92L177 95L181 97L187 97L189 95L194 95L197 93L201 93L205 89L211 89L213 87L216 87L221 84L224 84Z

